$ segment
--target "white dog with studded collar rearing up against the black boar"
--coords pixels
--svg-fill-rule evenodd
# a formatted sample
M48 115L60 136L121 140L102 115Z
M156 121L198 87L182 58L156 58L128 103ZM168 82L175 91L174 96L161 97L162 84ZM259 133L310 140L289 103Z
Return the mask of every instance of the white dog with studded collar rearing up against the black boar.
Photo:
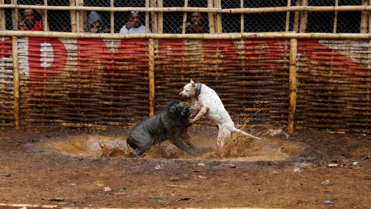
M235 128L231 116L228 114L226 108L224 108L224 105L217 93L205 84L195 84L193 80L190 80L190 83L184 86L183 91L179 93L179 96L186 98L194 97L194 99L198 100L197 105L199 105L201 109L190 123L194 123L194 121L198 120L203 115L206 115L208 119L218 124L219 133L217 142L219 147L224 147L227 140L231 138L233 132L260 139Z

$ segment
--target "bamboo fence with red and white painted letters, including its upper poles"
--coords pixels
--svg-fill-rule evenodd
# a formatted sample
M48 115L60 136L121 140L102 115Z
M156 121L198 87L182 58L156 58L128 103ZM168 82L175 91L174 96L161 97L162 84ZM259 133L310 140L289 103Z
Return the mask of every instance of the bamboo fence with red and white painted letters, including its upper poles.
M190 79L213 88L237 126L313 128L370 133L371 3L222 9L0 4L12 9L69 10L72 33L0 31L0 126L98 127L133 125L178 99ZM86 11L145 12L146 34L82 33ZM210 34L163 34L164 12L208 12ZM360 11L359 34L306 33L307 13ZM286 12L285 32L245 33L243 15ZM292 13L293 12L293 13ZM224 34L222 13L241 14L241 32ZM149 18L151 14L151 19ZM294 15L290 32L289 16ZM185 26L185 19L183 26ZM149 24L149 21L152 21ZM185 27L183 27L185 28ZM111 28L111 31L112 28ZM185 101L186 103L186 101ZM211 125L203 119L200 124Z

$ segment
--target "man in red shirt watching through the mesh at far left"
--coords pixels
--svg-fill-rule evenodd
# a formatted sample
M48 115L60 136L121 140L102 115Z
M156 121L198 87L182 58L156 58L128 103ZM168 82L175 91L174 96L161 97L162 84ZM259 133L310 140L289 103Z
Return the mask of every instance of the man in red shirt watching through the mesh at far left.
M37 4L40 5L40 4ZM43 18L44 12L36 9L37 13ZM36 14L33 9L24 9L21 11L22 20L18 21L18 30L21 31L44 31L44 24L42 19L36 19Z

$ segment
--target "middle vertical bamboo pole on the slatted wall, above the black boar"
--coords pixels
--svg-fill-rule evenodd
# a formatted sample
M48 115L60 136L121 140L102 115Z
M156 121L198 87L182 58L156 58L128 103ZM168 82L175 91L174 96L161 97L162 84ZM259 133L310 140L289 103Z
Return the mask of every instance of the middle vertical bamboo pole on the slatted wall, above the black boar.
M149 88L149 116L154 115L155 87L154 87L154 40L148 40L148 88Z

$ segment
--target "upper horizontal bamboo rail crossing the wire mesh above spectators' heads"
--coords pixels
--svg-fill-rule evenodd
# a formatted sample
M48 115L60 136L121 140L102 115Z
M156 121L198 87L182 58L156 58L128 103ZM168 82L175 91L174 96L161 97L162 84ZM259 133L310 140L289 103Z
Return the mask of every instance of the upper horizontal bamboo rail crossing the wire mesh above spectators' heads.
M261 8L211 8L211 7L98 7L98 6L44 6L0 4L0 8L45 9L45 10L79 10L79 11L141 11L141 12L216 12L216 13L272 13L272 12L325 12L325 11L371 11L371 6L282 6Z

